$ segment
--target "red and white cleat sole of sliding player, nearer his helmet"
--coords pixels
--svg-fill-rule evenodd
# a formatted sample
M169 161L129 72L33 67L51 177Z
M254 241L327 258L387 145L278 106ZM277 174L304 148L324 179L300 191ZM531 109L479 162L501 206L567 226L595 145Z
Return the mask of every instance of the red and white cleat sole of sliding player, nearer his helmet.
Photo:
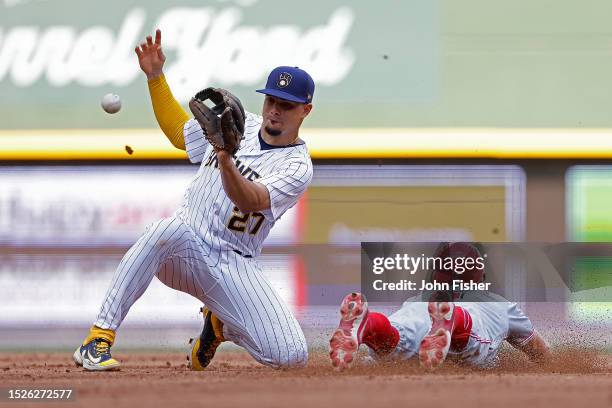
M429 302L427 311L431 318L431 330L421 341L419 362L422 367L433 370L446 359L453 333L453 302Z

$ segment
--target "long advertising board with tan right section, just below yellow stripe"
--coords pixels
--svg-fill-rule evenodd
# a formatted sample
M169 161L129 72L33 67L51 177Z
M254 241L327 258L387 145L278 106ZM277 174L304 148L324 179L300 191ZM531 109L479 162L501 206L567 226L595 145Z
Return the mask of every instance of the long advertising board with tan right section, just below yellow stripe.
M0 174L0 244L123 247L171 216L197 166L11 166ZM520 240L516 166L316 166L266 243Z

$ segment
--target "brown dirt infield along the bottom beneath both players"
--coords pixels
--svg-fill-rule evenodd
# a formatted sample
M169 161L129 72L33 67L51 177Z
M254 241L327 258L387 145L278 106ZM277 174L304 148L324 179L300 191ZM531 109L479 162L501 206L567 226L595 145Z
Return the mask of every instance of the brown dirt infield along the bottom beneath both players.
M322 351L311 353L308 367L290 371L263 367L242 352L223 352L206 372L188 371L179 353L116 353L121 371L90 373L76 368L69 353L0 353L0 387L75 390L75 403L44 406L612 406L609 355L556 355L557 362L546 367L506 353L500 367L489 371L448 364L426 373L413 363L396 363L363 364L338 373ZM3 398L0 404L7 402Z

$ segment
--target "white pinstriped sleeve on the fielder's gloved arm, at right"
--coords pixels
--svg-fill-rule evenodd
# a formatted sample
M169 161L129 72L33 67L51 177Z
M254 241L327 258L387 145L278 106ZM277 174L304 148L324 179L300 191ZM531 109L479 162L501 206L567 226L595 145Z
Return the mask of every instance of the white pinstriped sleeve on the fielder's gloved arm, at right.
M289 160L281 170L254 181L268 189L270 210L262 213L275 222L298 202L308 188L312 181L312 162L301 158Z

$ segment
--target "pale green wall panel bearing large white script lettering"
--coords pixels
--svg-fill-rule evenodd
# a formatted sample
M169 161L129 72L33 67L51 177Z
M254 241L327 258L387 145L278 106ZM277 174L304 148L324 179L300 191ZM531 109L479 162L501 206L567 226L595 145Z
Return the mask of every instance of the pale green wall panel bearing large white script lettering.
M365 100L371 118L386 111L376 103L429 101L438 82L437 2L383 3L316 0L296 13L276 0L5 0L0 128L153 127L134 47L155 28L162 30L168 82L183 103L213 85L260 112L254 90L278 65L312 74L315 126L353 126L359 118L345 115ZM99 106L107 92L123 98L112 117ZM27 121L20 115L26 110Z

